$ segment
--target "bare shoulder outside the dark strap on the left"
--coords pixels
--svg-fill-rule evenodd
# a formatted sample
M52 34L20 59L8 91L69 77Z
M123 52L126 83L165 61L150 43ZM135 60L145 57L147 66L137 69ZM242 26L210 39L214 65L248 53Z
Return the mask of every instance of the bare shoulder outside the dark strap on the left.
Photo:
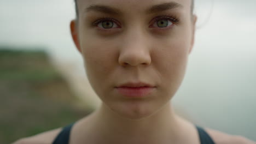
M38 135L20 139L13 144L51 144L61 130L62 128L46 131Z

